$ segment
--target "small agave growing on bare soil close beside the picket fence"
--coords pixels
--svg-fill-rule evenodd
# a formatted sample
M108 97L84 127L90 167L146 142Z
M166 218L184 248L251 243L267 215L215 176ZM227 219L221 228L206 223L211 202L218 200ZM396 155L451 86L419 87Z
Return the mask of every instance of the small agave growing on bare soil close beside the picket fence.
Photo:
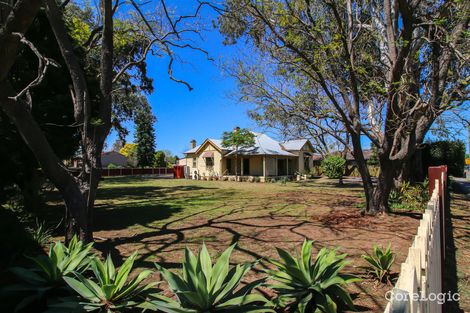
M362 258L369 263L370 272L380 281L390 283L390 270L395 261L395 254L392 252L391 245L387 249L374 246L372 254L365 254Z

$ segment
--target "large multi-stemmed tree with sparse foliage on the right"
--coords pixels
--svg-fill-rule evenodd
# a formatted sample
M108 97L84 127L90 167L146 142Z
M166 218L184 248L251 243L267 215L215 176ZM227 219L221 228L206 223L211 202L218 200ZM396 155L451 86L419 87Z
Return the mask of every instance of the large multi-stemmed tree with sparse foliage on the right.
M277 82L282 100L291 104L288 114L307 112L319 128L324 122L342 125L361 174L366 211L376 214L388 211L397 172L435 119L468 104L469 6L468 1L226 0L219 27L226 43L247 38L258 48L271 65L266 80ZM267 97L263 88L239 82L245 94ZM283 103L268 102L278 109ZM362 136L377 147L376 186Z

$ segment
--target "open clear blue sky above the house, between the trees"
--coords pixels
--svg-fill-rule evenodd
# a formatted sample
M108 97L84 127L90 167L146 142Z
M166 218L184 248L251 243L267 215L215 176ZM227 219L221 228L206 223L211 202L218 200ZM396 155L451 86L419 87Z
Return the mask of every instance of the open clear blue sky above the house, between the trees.
M207 16L209 10L205 9L202 13ZM158 150L170 150L182 156L188 150L191 139L202 142L208 137L220 138L224 131L235 126L256 130L256 124L246 113L249 105L234 100L235 80L224 75L218 66L242 47L224 46L223 37L217 30L206 31L203 37L204 41L198 45L209 52L213 61L201 52L179 49L182 62L175 61L173 66L173 76L191 84L194 88L191 92L185 85L169 79L167 58L150 56L147 60L149 76L154 79L155 91L148 96L148 100L157 118L155 134ZM127 142L133 142L134 125L129 122L126 126L130 131ZM108 136L108 149L116 138L115 132Z

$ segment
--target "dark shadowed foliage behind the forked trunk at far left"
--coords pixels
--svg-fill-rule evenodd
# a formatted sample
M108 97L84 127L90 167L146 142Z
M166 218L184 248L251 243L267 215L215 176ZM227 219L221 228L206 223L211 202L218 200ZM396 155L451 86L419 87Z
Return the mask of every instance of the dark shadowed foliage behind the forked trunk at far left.
M41 125L55 153L61 159L70 159L79 145L77 129L68 126L73 123L70 79L44 12L37 15L33 27L25 36L60 65L51 68L43 84L31 90L31 98L34 99L31 114ZM12 85L17 89L26 86L35 78L37 66L37 57L32 51L21 51L11 69ZM15 125L1 110L0 146L5 151L0 154L0 193L4 188L18 186L23 196L24 208L34 211L40 204L38 196L42 181L41 170Z

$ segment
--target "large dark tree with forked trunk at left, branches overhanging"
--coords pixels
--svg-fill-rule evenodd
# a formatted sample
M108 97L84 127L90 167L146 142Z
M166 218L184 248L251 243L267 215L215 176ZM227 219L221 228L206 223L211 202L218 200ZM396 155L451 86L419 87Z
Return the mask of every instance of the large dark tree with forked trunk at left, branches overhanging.
M55 64L25 37L43 3L71 79L74 111L71 126L79 131L79 151L83 159L83 167L76 177L63 166L30 112L31 90L41 84L48 69ZM175 60L172 48L203 51L188 42L186 35L197 33L194 24L187 22L197 16L203 3L197 6L195 14L173 19L169 13L144 14L141 7L144 4L131 1L131 7L123 9L128 18L120 20L116 12L122 4L121 1L113 5L112 0L100 0L96 7L87 7L86 14L82 14L82 6L73 6L69 1L59 5L56 0L17 0L14 5L2 5L0 108L15 124L43 172L61 193L66 208L67 241L75 234L84 241L93 240L93 206L100 179L101 152L115 121L112 115L116 95L151 90L152 81L146 75L145 63L149 52L167 56L169 77L192 89L172 75ZM157 10L169 12L165 1L159 3ZM31 49L38 58L38 74L26 87L15 88L11 69L18 52L24 49Z

